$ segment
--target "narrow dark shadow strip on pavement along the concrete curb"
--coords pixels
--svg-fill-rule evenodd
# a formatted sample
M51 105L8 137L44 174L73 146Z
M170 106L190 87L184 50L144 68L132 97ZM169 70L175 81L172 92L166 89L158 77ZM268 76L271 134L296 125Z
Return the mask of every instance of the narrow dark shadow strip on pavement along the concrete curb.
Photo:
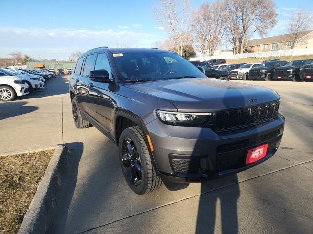
M61 187L60 197L62 199L59 201L56 213L57 215L61 215L62 217L57 219L57 224L53 223L50 225L49 230L47 233L54 233L53 230L54 226L57 225L60 233L64 233L68 210L73 199L73 194L76 188L77 183L77 174L78 174L78 165L80 162L80 158L83 154L84 144L82 142L73 142L64 144L70 151L69 158L67 161L67 169L64 181ZM53 219L55 220L55 219Z

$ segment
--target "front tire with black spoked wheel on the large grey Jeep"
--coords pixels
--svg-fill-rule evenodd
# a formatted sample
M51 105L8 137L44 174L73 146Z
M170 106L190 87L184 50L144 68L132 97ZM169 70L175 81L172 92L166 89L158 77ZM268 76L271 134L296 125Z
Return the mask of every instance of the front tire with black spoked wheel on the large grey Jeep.
M119 138L118 145L121 168L129 187L139 195L160 188L162 180L156 175L140 128L126 128Z

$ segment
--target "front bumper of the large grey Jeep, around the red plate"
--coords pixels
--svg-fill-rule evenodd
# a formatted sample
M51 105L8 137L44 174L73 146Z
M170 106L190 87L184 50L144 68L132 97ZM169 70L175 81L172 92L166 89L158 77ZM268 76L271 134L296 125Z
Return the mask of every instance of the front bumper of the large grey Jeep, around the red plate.
M276 152L284 129L284 117L224 133L210 128L163 124L146 125L154 145L156 169L164 180L201 182L253 167ZM246 165L247 150L268 143L267 155Z

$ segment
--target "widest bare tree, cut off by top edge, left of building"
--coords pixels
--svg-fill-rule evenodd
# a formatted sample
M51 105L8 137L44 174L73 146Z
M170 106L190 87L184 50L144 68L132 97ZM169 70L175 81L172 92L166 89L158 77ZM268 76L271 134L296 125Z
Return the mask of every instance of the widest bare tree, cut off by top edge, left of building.
M236 54L243 53L254 33L266 35L277 19L273 0L224 0L224 12Z

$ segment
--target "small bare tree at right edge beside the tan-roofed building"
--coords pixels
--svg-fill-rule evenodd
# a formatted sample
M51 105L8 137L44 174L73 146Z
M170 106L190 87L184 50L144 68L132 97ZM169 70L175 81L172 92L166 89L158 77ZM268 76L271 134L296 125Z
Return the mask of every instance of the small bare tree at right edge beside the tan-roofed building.
M293 49L297 46L301 32L310 29L313 26L312 24L312 13L304 10L298 9L297 11L292 12L290 20L288 20L288 33L290 34L290 47Z

